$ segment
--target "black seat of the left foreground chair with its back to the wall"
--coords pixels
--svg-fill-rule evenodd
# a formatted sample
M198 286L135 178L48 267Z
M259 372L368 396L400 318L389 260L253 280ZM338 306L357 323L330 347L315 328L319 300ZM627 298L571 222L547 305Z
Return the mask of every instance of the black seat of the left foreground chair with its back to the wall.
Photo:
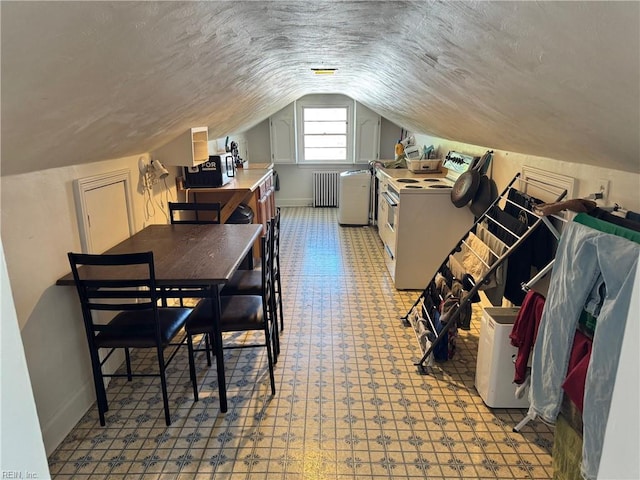
M159 308L160 340L163 345L184 326L190 308ZM129 310L120 312L96 335L99 348L150 348L156 345L153 311Z

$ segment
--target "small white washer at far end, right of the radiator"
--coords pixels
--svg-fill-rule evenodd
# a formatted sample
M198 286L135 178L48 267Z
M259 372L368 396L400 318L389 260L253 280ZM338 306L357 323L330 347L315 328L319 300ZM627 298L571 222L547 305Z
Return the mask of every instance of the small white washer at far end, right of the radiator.
M371 172L350 170L340 174L340 225L368 225Z

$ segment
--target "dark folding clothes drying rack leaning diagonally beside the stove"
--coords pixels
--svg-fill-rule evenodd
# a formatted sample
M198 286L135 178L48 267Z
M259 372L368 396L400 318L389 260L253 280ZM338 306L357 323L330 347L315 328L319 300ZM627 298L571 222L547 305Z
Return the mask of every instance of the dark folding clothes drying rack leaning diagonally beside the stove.
M471 303L472 299L477 296L478 291L481 289L481 287L490 281L492 275L494 275L498 267L500 267L500 265L509 257L509 255L511 255L518 247L522 245L522 243L527 239L527 237L531 235L536 230L536 228L540 226L540 224L544 223L547 226L547 228L549 228L552 231L553 235L556 236L556 238L559 238L559 234L557 230L555 229L555 227L549 221L548 218L522 205L516 204L518 208L526 211L528 214L532 215L535 218L535 221L533 222L533 224L527 226L526 229L524 230L524 233L522 234L518 234L514 232L512 229L503 225L502 222L498 221L496 218L492 216L492 212L494 212L493 209L494 207L497 207L498 204L500 204L501 202L502 204L506 204L506 202L511 202L511 200L509 200L507 196L510 190L512 189L518 190L518 189L515 189L514 187L514 184L517 181L520 182L520 185L523 185L523 184L525 186L532 185L532 186L535 186L535 188L539 188L539 189L551 192L552 194L557 196L555 200L556 202L562 200L567 194L566 189L561 189L560 187L553 187L553 186L549 187L535 180L523 179L523 178L520 178L520 174L518 173L513 177L513 179L509 182L509 184L502 191L502 193L491 203L489 208L480 217L476 219L472 227L463 235L460 241L446 256L446 258L440 265L440 268L438 268L438 271L432 277L432 280L424 288L424 290L422 291L418 299L415 301L413 306L409 309L407 314L401 318L404 325L413 327L414 332L416 334L416 338L418 340L418 344L421 346L421 349L423 352L423 355L420 358L420 360L414 364L418 369L418 373L422 375L428 374L428 367L433 363L432 360L433 360L434 349L444 340L449 330L454 325L457 324L462 311L465 308L470 307L469 304ZM480 223L483 223L483 224L491 223L497 226L497 228L500 228L503 232L506 232L508 235L513 237L514 242L511 244L511 246L508 246L508 248L501 255L498 255L495 252L491 251L492 255L496 257L495 261L491 265L489 265L484 260L482 261L482 263L486 267L484 274L481 276L481 278L475 278L473 279L473 281L469 282L471 289L466 291L466 295L461 296L462 298L459 299L459 301L455 304L446 323L441 325L440 330L437 330L436 324L438 322L436 321L436 318L435 318L437 306L433 305L434 302L432 301L428 302L426 300L429 298L433 299L434 295L436 295L436 298L437 298L436 282L435 282L436 276L439 273L443 272L445 268L451 271L448 265L450 261L449 259L455 253L460 252L462 250L463 245L469 251L471 251L473 255L475 255L480 259L482 258L481 255L478 252L476 252L474 248L472 248L468 240L469 235L476 231L476 227ZM551 268L550 265L547 266L549 269ZM458 279L458 280L462 281L463 279ZM537 280L538 279L536 279L536 281ZM528 283L531 283L531 282L528 282ZM532 284L533 283L531 283L531 285ZM442 299L441 296L439 297L440 299ZM426 324L426 327L428 328L428 331L426 332L424 331L425 324ZM425 340L425 337L426 337L426 340Z

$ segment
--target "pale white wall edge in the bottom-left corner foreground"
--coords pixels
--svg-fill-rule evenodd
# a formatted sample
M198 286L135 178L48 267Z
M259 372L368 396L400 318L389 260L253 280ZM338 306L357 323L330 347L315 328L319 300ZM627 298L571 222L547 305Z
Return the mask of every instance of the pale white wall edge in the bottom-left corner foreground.
M1 241L0 285L0 475L49 478Z

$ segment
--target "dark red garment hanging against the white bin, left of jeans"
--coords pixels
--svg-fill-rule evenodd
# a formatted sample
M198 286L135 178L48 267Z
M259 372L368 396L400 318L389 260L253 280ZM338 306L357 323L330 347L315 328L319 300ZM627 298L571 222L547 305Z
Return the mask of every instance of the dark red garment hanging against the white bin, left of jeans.
M533 344L538 336L538 327L542 318L545 298L534 290L529 290L522 301L511 334L511 345L518 348L516 373L513 381L520 384L527 378L527 363Z

